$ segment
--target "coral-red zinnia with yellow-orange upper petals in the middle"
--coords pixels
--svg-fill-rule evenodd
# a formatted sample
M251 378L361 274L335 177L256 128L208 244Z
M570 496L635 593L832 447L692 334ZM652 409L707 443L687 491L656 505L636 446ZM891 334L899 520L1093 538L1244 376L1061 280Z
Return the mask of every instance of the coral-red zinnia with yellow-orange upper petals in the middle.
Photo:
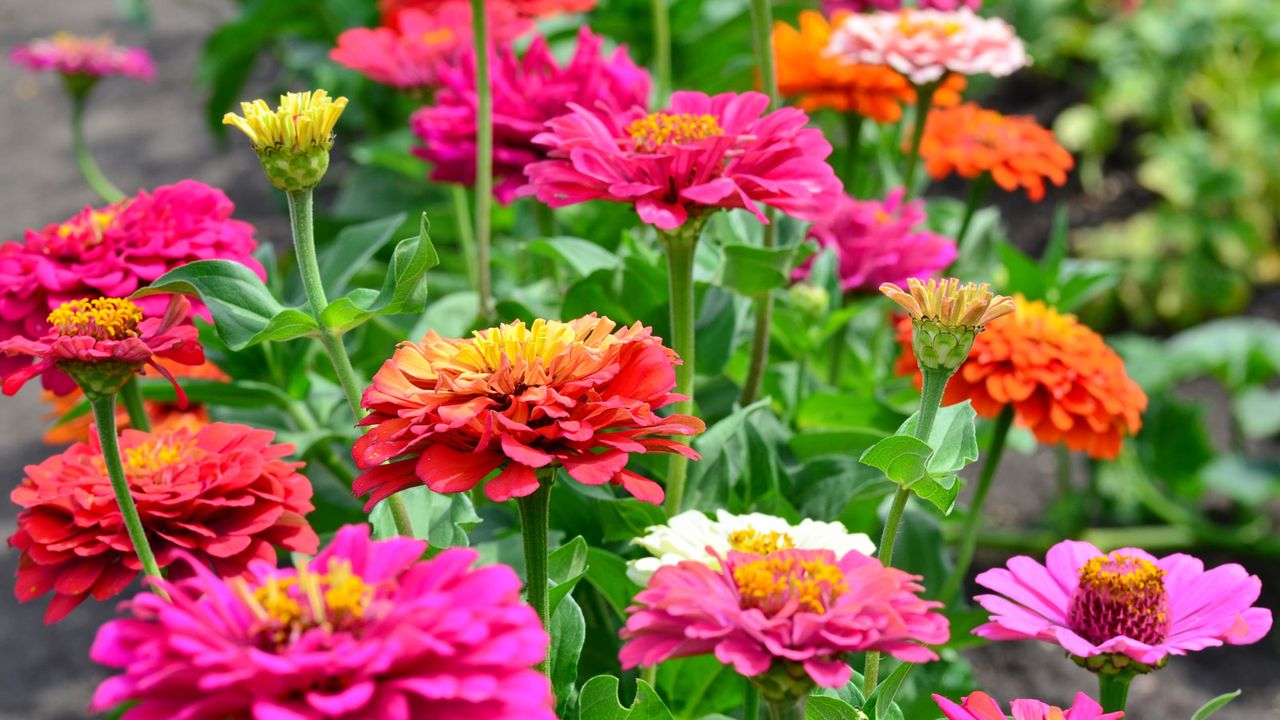
M639 323L614 331L594 314L570 323L516 322L467 340L428 333L404 342L365 391L372 425L356 441L357 496L384 497L422 483L466 492L485 483L494 501L538 489L535 469L558 464L575 480L613 483L646 502L662 488L626 469L632 452L698 454L662 436L703 432L689 415L660 416L682 400L676 354ZM385 460L396 461L383 465Z

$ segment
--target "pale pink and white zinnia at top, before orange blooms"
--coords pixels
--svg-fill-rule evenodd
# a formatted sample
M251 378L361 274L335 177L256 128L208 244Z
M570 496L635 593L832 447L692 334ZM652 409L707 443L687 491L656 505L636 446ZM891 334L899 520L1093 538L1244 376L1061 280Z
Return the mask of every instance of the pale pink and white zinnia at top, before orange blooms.
M915 85L948 72L1002 77L1030 64L1009 23L968 8L850 14L832 32L827 53L850 64L888 65Z

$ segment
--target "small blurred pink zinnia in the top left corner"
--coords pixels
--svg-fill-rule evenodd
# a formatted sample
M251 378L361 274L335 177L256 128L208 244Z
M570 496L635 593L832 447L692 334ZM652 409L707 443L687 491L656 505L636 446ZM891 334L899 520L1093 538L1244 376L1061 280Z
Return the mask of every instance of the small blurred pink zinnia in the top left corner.
M156 69L141 47L120 47L110 37L78 37L59 32L52 37L19 45L9 61L32 72L54 70L64 76L100 78L125 76L151 82Z

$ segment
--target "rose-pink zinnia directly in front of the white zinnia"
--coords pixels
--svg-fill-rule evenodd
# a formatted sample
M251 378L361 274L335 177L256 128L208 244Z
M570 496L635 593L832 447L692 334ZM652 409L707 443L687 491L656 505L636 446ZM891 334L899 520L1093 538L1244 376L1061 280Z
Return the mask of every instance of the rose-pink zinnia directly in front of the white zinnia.
M920 600L915 575L860 552L730 552L719 569L660 568L636 594L618 659L622 669L714 653L748 678L774 662L824 688L849 682L849 652L876 650L908 662L937 660L918 644L947 642L941 603ZM801 688L797 688L801 689Z

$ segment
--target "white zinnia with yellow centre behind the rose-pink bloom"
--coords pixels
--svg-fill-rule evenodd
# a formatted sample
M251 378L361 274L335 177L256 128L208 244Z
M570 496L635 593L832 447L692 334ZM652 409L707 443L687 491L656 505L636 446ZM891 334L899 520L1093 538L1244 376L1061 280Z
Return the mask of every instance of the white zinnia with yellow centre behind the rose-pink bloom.
M837 556L858 551L876 552L876 543L864 533L850 533L840 523L820 523L805 518L792 525L782 518L750 512L733 515L716 511L712 520L699 510L689 510L654 525L643 537L631 541L648 550L653 557L627 562L627 575L636 584L646 584L654 571L685 560L719 568L719 559L730 551L769 555L780 550L829 550Z

